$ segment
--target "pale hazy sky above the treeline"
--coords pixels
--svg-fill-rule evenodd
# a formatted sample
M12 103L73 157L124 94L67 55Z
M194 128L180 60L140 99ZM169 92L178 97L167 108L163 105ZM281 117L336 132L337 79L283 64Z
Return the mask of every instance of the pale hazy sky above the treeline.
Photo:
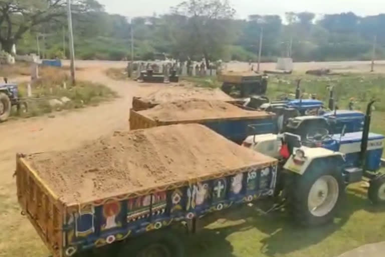
M98 0L109 13L123 16L163 14L182 0ZM308 11L318 15L353 12L357 15L385 13L384 0L230 0L238 18L251 14L279 14Z

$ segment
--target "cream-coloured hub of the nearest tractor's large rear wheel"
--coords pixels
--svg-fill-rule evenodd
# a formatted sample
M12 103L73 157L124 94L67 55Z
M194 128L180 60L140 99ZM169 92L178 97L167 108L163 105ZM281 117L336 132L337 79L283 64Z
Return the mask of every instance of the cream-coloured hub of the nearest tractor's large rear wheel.
M326 175L318 178L309 191L309 211L318 217L327 215L337 203L338 195L338 182L334 177Z

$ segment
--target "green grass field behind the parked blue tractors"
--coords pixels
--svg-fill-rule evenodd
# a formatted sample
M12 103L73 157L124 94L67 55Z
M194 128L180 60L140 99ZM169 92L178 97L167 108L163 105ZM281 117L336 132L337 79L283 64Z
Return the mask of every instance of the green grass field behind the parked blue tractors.
M201 87L220 87L215 77L183 77ZM266 95L274 100L279 96L295 93L297 80L301 79L301 93L305 97L315 94L327 105L328 86L334 87L334 99L339 109L347 109L350 98L354 98L354 109L365 112L370 99L376 99L372 112L371 131L385 135L385 74L345 73L331 76L305 74L270 75ZM289 96L290 97L290 96ZM293 98L293 96L291 96Z

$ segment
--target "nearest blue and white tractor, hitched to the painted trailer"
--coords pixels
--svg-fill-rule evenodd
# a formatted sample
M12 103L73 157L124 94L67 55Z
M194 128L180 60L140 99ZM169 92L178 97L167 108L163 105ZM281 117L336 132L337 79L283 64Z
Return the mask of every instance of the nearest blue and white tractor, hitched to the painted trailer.
M320 225L330 221L342 203L346 185L367 180L368 198L385 203L381 166L384 136L369 133L371 101L362 131L338 134L318 128L301 137L292 133L249 136L243 146L279 160L276 195L281 192L298 222Z

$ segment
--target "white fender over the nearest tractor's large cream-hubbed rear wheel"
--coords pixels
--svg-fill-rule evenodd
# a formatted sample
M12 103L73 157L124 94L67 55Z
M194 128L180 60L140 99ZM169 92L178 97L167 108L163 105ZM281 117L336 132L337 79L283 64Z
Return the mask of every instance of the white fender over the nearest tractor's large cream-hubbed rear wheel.
M295 156L297 150L303 151L304 158L302 158L302 160L298 160L298 158ZM333 152L324 148L294 148L293 154L289 157L284 165L284 169L289 172L303 175L306 170L308 170L308 168L310 168L313 164L319 165L320 162L342 167L345 162L345 156L340 152Z

